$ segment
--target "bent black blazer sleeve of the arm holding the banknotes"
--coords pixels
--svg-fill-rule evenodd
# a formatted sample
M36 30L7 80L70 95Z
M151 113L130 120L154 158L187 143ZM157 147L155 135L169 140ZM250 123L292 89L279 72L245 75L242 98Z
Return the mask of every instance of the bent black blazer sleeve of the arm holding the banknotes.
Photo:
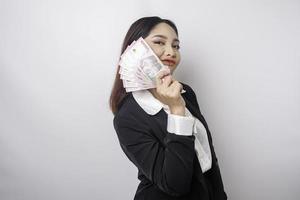
M160 142L145 119L128 113L113 123L124 153L160 190L172 196L190 191L195 136L167 132Z

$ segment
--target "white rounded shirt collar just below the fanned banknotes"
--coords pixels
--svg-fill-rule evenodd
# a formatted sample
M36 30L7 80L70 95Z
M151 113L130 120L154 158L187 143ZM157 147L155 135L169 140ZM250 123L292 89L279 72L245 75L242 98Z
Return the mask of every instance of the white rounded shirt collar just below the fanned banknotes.
M183 91L185 92L185 91ZM132 96L142 109L149 115L157 114L162 108L169 110L169 106L156 99L148 90L133 91Z

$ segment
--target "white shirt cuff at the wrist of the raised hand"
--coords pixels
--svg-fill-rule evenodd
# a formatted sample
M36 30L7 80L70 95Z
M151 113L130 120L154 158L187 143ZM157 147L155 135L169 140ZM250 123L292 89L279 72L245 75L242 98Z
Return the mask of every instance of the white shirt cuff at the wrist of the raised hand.
M193 135L195 118L168 114L167 131L177 135Z

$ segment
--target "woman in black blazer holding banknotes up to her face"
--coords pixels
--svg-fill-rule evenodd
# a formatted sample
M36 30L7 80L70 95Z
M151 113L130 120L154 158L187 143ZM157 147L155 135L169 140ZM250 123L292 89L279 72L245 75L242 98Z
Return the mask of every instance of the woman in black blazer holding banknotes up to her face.
M157 75L156 88L126 93L117 69L110 107L121 148L138 168L140 184L134 199L227 199L196 95L172 77L180 62L175 24L159 17L137 20L128 30L122 53L139 37L169 70Z

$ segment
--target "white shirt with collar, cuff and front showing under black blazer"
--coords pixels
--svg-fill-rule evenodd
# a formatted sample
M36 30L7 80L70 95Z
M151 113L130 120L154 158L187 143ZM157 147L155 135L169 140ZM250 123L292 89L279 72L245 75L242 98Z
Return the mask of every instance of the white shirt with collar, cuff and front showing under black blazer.
M170 113L168 105L161 103L148 90L132 92L136 102L149 115L155 115L162 108L168 114L167 131L177 135L195 136L195 152L198 157L202 172L211 168L212 157L207 137L207 132L203 124L185 108L185 115L174 115Z

